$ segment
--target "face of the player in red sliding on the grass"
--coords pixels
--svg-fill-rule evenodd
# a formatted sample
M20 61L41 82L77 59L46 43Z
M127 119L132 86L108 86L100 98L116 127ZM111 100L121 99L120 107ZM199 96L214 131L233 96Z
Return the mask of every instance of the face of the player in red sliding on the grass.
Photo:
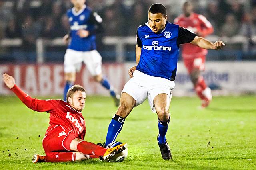
M82 111L85 106L86 94L85 92L76 91L72 98L68 98L69 104L77 111Z

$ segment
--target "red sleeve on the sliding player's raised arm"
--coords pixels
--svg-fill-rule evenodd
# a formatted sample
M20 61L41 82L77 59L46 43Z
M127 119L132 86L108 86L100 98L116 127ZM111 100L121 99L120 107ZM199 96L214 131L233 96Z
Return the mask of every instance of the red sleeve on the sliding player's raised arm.
M18 96L18 98L30 109L38 112L50 112L58 106L60 100L40 100L37 98L31 98L23 92L16 84L11 88L12 92Z

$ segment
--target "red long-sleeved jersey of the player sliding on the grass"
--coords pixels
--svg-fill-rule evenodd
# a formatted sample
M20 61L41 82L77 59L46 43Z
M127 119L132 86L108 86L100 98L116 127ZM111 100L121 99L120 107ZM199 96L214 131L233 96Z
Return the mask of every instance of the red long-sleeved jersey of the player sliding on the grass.
M86 127L82 112L74 110L63 100L40 100L31 98L16 85L14 85L11 90L28 108L38 112L50 113L50 122L47 131L60 125L66 131L72 130L78 138L84 139Z

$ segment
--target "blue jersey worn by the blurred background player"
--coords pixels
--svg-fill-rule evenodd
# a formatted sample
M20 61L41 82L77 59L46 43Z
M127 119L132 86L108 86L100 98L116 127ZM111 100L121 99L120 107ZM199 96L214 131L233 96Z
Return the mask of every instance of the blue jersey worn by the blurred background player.
M102 19L96 12L92 12L86 5L76 12L75 8L68 10L68 20L70 22L71 42L68 45L69 49L76 51L91 51L96 49L95 31L101 29ZM89 36L80 38L77 35L79 29L89 31Z

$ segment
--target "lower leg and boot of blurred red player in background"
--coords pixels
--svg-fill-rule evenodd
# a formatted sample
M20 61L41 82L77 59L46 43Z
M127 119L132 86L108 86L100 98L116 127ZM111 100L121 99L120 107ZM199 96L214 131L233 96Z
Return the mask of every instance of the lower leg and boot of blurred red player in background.
M202 108L207 107L212 100L211 89L206 85L204 78L200 76L195 86L196 94L202 100Z

